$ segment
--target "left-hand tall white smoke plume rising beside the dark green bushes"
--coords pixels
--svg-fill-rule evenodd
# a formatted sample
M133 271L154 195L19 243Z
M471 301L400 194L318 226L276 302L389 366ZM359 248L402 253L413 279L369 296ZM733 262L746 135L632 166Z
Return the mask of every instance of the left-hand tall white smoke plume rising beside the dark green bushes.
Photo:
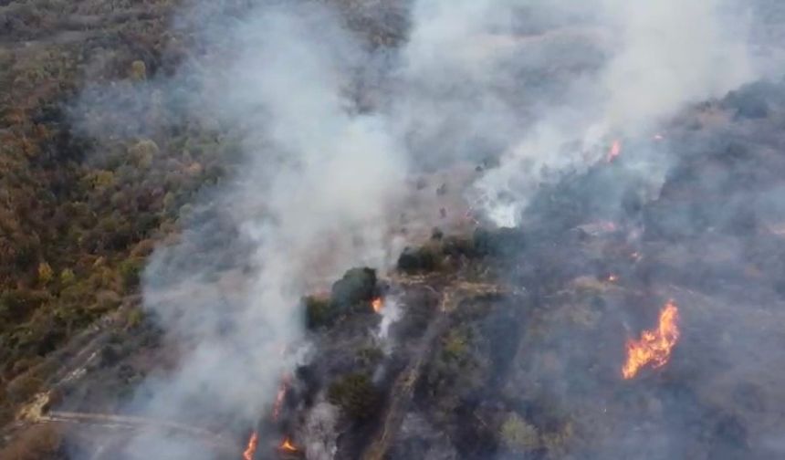
M301 296L349 267L389 264L385 215L406 163L384 117L353 109L353 73L368 57L330 10L260 7L222 41L234 47L230 65L195 77L216 96L200 107L243 127L246 160L209 205L240 229L247 267L200 262L194 252L215 228L198 219L183 243L152 257L145 305L185 346L180 367L146 382L131 407L188 420L204 416L195 405L213 405L249 429L294 364L286 350L303 336ZM210 456L163 434L141 435L126 451Z

